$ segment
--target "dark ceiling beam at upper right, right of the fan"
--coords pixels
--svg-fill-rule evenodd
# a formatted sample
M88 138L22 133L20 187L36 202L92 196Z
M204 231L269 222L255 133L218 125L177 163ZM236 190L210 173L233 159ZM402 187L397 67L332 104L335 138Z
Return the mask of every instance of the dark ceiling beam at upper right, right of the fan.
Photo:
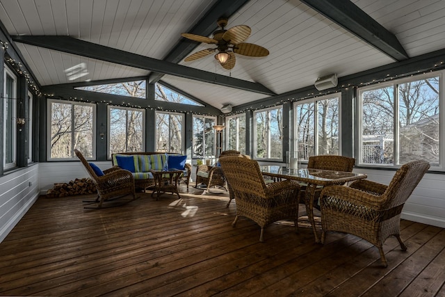
M349 0L300 0L373 47L396 59L406 60L408 54L396 36L364 13Z

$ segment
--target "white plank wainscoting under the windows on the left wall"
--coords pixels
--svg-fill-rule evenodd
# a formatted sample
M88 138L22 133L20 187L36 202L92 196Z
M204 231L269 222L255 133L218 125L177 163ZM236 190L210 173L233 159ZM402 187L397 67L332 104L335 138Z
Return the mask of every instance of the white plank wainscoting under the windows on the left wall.
M39 182L38 163L0 177L0 242L37 200Z

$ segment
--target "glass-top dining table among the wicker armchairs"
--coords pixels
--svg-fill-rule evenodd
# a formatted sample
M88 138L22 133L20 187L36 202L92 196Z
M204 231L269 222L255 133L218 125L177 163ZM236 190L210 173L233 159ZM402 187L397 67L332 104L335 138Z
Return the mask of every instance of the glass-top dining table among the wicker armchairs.
M278 177L281 179L294 179L307 183L305 190L305 206L307 217L312 225L316 243L320 242L315 227L314 220L314 197L316 188L330 186L332 184L345 184L357 179L366 179L364 173L343 172L321 169L289 169L284 166L259 166L264 175ZM323 218L322 218L323 219Z

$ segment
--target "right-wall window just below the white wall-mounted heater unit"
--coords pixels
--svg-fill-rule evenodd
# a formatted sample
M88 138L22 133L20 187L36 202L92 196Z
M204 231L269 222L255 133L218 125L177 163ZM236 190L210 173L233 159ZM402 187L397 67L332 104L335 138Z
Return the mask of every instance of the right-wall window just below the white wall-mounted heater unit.
M323 96L293 104L298 159L309 160L309 156L317 154L340 154L340 96Z

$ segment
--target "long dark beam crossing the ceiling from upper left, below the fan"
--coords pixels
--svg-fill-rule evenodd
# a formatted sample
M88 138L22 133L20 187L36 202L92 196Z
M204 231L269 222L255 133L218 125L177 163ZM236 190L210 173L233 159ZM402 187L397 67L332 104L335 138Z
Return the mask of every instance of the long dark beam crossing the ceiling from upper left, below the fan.
M242 79L235 79L233 77L198 70L192 67L177 65L171 62L133 54L128 51L113 49L112 47L105 47L104 45L97 45L92 42L71 38L70 36L19 35L11 36L11 38L15 42L22 42L28 45L35 45L37 47L44 47L47 49L54 49L56 51L63 51L65 53L85 56L88 58L95 58L100 61L107 61L129 67L170 74L174 75L175 77L184 77L186 79L194 79L206 83L214 83L220 86L227 86L229 88L248 90L254 93L275 95L273 91L269 90L261 83L244 81Z

